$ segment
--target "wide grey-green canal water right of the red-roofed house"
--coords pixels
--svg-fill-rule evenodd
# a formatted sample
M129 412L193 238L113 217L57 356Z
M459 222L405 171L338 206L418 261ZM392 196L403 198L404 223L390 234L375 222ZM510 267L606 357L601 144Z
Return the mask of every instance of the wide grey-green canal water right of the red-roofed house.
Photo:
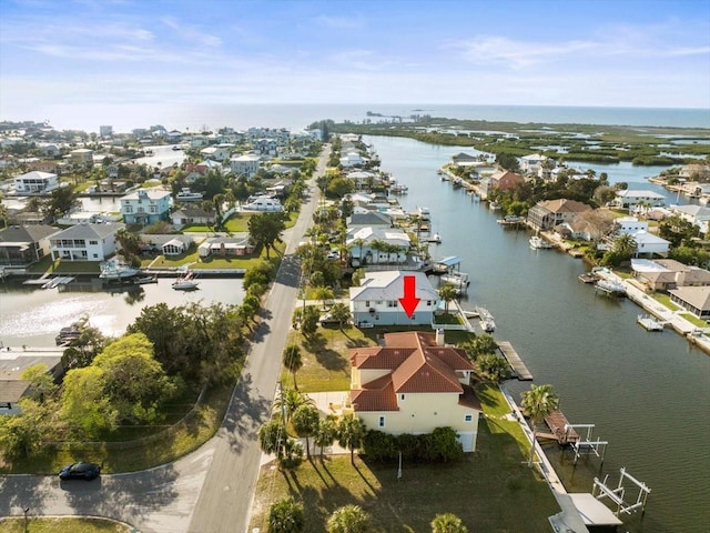
M399 201L407 210L427 207L435 258L458 255L470 275L463 306L487 308L498 326L495 338L510 341L535 376L561 399L570 423L596 424L592 440L609 441L604 464L570 451L548 449L569 492L591 492L595 476L617 486L619 469L651 490L643 517L625 517L619 531L666 533L708 531L710 524L710 356L666 331L636 324L639 308L628 300L596 295L577 276L580 260L550 250L530 250L529 234L504 230L485 203L442 182L436 170L457 152L410 139L367 139L382 168L409 187ZM620 172L615 172L615 170ZM659 169L612 165L611 182L666 192L646 182ZM672 201L676 201L673 195ZM682 201L682 197L681 197ZM510 382L519 399L529 383ZM627 500L636 501L625 483Z

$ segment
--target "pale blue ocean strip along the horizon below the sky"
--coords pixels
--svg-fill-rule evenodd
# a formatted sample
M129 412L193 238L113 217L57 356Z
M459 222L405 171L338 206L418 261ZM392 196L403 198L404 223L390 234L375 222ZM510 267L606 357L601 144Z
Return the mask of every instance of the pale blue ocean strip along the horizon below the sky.
M41 113L38 115L37 113ZM693 108L604 108L566 105L477 105L434 103L290 103L290 104L85 104L81 108L53 105L33 110L28 117L1 117L2 120L49 121L59 130L98 132L110 124L115 132L161 124L169 130L214 131L231 127L245 130L253 127L287 128L298 131L325 119L336 122L362 122L367 113L383 117L430 114L436 118L485 120L488 122L572 123L598 125L703 128L710 129L710 109ZM30 117L30 114L32 114Z

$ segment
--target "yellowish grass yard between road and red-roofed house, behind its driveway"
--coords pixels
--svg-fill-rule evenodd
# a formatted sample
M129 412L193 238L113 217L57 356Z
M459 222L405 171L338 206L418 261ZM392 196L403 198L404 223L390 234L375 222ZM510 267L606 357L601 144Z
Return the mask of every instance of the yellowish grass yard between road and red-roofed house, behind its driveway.
M318 328L313 341L303 339L298 331L290 333L288 343L301 346L303 368L296 373L298 390L303 392L346 391L351 388L351 348L377 345L357 328L337 325ZM281 382L293 385L293 375L284 370Z

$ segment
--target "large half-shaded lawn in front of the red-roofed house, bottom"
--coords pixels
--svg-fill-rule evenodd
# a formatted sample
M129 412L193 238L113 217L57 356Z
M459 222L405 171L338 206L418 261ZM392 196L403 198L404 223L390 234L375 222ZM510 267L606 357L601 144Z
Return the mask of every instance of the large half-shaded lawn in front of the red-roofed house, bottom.
M262 467L252 527L266 531L272 502L294 496L305 507L305 532L325 532L328 515L354 503L372 516L372 532L425 532L438 513L458 515L469 531L549 532L559 507L547 483L527 467L516 440L481 420L478 450L450 464L376 464L349 455L313 459L293 472Z

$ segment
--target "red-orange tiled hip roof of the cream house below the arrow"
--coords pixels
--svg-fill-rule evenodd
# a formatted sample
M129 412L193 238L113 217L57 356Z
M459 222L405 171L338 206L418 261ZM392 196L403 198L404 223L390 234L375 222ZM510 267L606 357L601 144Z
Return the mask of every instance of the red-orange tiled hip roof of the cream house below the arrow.
M456 393L464 386L456 371L473 371L463 350L440 346L433 333L407 331L385 334L385 346L351 350L358 370L386 370L386 375L363 383L352 394L355 411L396 410L396 394Z

